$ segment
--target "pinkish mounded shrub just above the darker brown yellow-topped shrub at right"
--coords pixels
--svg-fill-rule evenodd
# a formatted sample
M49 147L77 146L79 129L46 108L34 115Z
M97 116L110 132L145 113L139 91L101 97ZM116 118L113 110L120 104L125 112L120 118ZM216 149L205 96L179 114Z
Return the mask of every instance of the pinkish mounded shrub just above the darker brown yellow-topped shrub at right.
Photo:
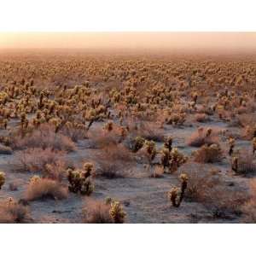
M191 136L189 137L187 144L191 147L201 147L202 145L212 145L218 144L219 138L216 131L212 131L211 128L198 128Z

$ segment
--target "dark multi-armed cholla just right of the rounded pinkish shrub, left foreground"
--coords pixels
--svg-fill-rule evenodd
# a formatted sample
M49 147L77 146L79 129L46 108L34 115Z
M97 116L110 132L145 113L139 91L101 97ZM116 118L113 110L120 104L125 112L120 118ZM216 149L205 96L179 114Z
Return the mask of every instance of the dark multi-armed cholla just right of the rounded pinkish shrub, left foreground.
M91 163L85 163L83 170L69 170L67 173L69 191L80 193L81 195L90 195L94 190L94 185L90 178L93 172L94 166Z

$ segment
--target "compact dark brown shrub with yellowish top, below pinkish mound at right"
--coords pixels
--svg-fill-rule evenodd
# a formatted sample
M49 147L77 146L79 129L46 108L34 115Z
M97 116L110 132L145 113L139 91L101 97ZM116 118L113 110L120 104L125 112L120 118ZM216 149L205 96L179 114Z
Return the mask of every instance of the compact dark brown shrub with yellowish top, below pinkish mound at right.
M195 161L199 163L214 163L222 158L222 151L217 144L203 145L195 151Z

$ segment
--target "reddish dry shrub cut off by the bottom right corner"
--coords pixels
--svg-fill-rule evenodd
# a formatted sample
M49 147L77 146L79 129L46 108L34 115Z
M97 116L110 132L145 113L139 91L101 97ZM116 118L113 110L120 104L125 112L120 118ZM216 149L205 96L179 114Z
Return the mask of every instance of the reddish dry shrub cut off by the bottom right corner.
M241 207L243 221L246 223L256 223L256 178L250 182L249 200Z

